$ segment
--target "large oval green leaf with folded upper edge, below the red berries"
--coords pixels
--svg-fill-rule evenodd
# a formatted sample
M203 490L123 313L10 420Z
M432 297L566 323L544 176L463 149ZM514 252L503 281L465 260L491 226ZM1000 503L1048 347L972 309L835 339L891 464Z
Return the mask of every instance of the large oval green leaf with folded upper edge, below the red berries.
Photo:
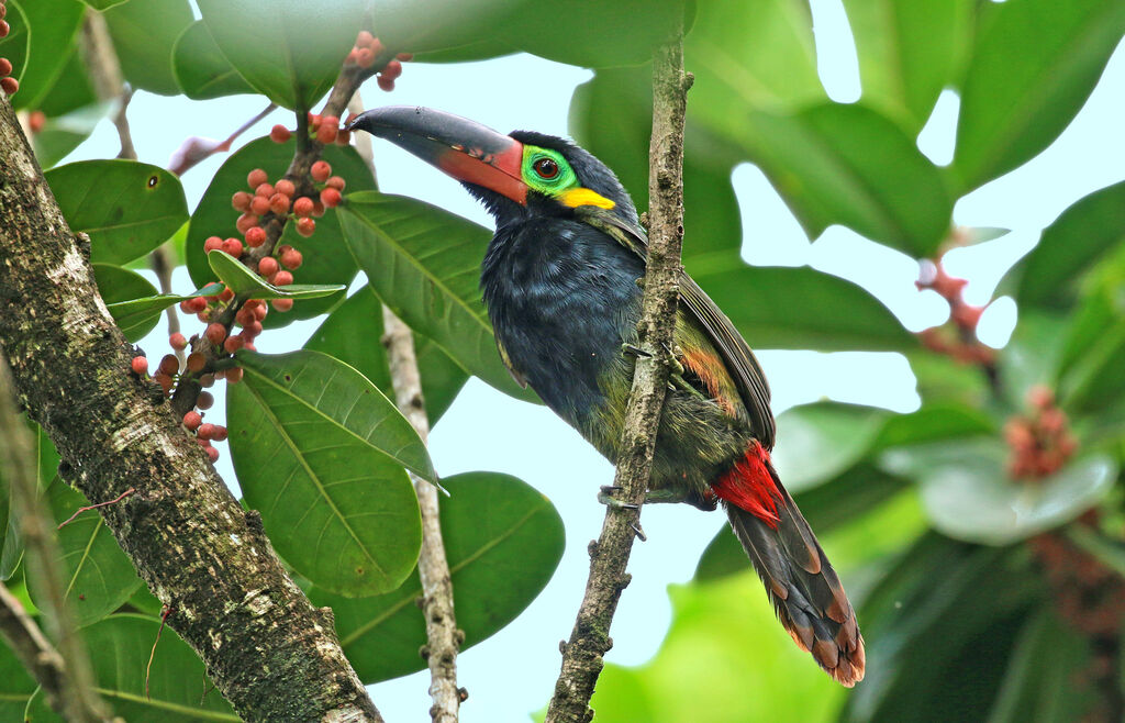
M417 561L417 498L403 467L436 479L425 445L358 371L318 352L240 352L227 388L245 501L298 572L341 595L398 587Z

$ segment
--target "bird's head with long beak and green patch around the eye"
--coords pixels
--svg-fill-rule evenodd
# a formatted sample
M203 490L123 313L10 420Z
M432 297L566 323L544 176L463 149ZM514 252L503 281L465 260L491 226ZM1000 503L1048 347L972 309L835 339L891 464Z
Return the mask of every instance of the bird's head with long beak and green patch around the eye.
M637 225L637 210L613 171L565 138L526 130L504 135L415 106L368 110L349 128L386 138L461 181L501 226L575 214L608 214Z

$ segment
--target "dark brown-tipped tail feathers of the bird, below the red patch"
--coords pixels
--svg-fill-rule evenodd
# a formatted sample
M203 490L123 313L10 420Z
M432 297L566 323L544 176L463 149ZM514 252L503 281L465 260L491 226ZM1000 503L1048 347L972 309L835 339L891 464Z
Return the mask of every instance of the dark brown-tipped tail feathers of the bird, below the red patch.
M839 577L793 498L770 469L781 492L777 522L768 524L726 503L735 536L766 586L777 618L796 644L844 686L863 680L863 635Z

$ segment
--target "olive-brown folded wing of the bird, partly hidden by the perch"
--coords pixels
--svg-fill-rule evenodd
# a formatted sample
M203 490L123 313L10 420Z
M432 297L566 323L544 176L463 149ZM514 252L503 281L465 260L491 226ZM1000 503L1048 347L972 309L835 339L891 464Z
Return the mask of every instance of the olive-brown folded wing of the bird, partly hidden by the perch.
M587 208L587 207L579 207ZM593 209L582 214L587 224L609 234L642 259L648 257L648 238L645 232L618 216ZM762 365L755 359L746 340L738 333L714 301L684 272L680 274L681 309L694 320L722 356L727 371L738 389L738 395L750 415L754 432L766 450L772 450L776 425L770 409L770 385Z

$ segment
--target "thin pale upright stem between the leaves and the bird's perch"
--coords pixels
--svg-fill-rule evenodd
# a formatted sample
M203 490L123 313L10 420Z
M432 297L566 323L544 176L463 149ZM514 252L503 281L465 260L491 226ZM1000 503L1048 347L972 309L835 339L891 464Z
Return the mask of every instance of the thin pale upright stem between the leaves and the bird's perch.
M387 307L382 307L382 343L390 362L390 379L395 387L398 409L414 426L424 442L430 435L422 398L422 380L414 355L414 335ZM422 579L422 614L425 616L426 662L430 666L430 696L433 723L456 723L462 693L457 687L457 653L465 633L457 629L453 614L453 582L441 539L438 514L438 488L411 475L422 509L422 553L418 577Z

